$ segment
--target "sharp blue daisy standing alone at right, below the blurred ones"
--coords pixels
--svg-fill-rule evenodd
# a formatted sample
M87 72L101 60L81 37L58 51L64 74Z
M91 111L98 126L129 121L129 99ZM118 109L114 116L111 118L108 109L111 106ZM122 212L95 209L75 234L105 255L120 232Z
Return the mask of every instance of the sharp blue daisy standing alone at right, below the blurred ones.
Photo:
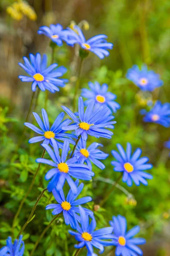
M128 186L132 186L132 181L139 186L140 183L147 186L147 181L145 179L152 179L153 176L144 170L151 169L153 166L150 163L147 163L149 160L148 157L140 157L142 150L137 148L136 151L131 156L132 148L130 143L127 143L126 153L120 144L117 144L117 151L112 150L111 153L117 161L112 161L111 164L114 167L115 172L123 172L122 181L127 183Z

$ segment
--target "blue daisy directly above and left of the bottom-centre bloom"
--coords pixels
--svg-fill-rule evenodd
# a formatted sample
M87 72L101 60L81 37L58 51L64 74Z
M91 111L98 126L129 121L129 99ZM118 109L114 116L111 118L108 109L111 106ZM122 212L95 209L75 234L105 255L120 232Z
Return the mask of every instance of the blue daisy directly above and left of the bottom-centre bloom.
M52 193L58 204L48 204L45 208L46 210L54 209L52 211L53 215L57 215L60 212L62 212L64 216L65 224L71 225L71 227L74 229L76 228L74 224L74 212L79 213L79 207L77 207L77 205L85 204L92 201L92 198L90 196L86 196L86 197L75 200L78 197L78 195L81 193L84 184L81 183L79 185L79 180L76 180L75 185L77 186L77 193L73 194L73 192L70 189L66 200L65 200L63 190L61 189L60 191L57 191L57 189L54 188L52 190ZM91 210L86 208L83 208L83 209L85 210L86 214L90 215L91 217L93 216L93 212ZM79 218L78 215L75 215L75 216Z

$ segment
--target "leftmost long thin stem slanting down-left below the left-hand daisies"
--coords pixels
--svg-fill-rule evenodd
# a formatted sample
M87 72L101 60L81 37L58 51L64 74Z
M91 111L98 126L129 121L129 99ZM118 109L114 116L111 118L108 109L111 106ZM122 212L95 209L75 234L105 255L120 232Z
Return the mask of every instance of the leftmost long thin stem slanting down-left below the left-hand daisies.
M44 149L43 152L42 152L41 158L44 157L45 151L46 151L46 150ZM29 195L29 193L30 193L30 191L31 191L31 189L32 189L32 187L33 187L33 185L34 185L35 178L37 177L37 174L38 174L38 172L39 172L39 170L40 170L40 165L41 165L41 163L39 163L39 165L38 165L37 171L35 172L35 174L34 174L34 176L33 176L33 179L32 179L32 181L31 181L31 184L30 184L30 186L29 186L28 191L26 192L25 197L24 197L23 200L20 202L20 206L19 206L19 208L18 208L18 210L17 210L17 213L16 213L16 215L15 215L15 217L14 217L14 221L13 221L13 223L12 223L12 230L14 229L15 221L17 220L17 217L18 217L18 215L20 214L20 211L21 211L21 209L22 209L22 207L23 207L23 204L24 204L24 202L26 201L26 198L27 198L27 196Z

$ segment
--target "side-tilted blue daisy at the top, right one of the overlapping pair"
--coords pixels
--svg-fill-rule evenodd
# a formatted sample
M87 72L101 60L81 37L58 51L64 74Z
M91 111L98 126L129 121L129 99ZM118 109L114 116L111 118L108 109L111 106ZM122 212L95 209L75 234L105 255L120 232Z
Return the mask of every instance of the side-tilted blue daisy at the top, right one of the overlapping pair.
M93 52L100 59L103 59L110 54L108 49L113 49L113 44L107 42L106 38L108 37L106 35L96 35L86 41L82 30L78 26L74 26L74 29L77 30L78 34L74 30L68 28L73 36L73 38L69 39L71 45L79 44L82 49Z

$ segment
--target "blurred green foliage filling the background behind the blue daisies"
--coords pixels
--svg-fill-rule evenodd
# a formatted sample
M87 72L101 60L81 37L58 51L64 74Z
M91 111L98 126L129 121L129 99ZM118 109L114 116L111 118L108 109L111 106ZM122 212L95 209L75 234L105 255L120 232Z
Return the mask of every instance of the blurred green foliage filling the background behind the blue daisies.
M3 12L5 12L7 5L5 2L2 1L1 3ZM12 3L12 1L8 2L8 4ZM168 14L170 2L166 0L162 0L161 3L158 0L100 0L98 3L94 2L91 3L94 13L86 13L87 17L85 18L90 23L90 29L85 34L90 37L98 33L105 33L108 35L108 41L113 42L114 47L109 57L102 61L92 53L89 55L84 63L81 87L88 87L88 81L98 81L100 84L107 83L109 90L117 95L117 102L121 105L121 109L115 114L117 123L111 140L88 138L88 145L94 141L102 143L104 145L102 150L108 153L109 157L103 161L106 166L104 170L93 166L94 180L84 182L85 186L81 197L89 195L93 198L93 201L88 203L88 207L94 210L98 228L108 226L108 221L113 215L121 214L127 218L128 229L137 224L142 227L140 236L144 236L148 243L152 240L155 241L154 239L158 237L162 237L164 242L168 242L168 236L164 235L163 230L166 227L168 212L170 212L170 161L168 159L169 152L163 144L170 136L170 129L142 122L139 111L142 108L148 108L148 106L142 93L139 92L139 88L125 79L125 73L132 64L139 64L139 66L142 63L148 64L150 69L159 73L164 81L163 87L157 88L149 97L153 101L160 99L162 102L167 102L170 99L170 71L168 68L170 64L170 17ZM79 8L81 9L81 6ZM76 17L73 15L72 19L79 22L78 17L79 15ZM10 26L12 26L13 21L10 22ZM57 22L59 20L55 21L55 23ZM37 27L39 25L37 23ZM20 24L18 23L17 26L19 27ZM41 37L38 39L39 46L41 46L42 36L39 35L39 37ZM36 42L33 43L36 44ZM47 47L45 51L50 63L50 47ZM35 53L35 49L33 53ZM51 124L62 111L61 105L66 105L69 108L72 105L75 74L69 67L73 55L74 49L66 45L59 48L55 55L55 61L68 68L66 77L70 82L59 93L49 95L47 112ZM17 65L16 62L15 65ZM27 89L22 94L25 90L23 87ZM80 93L81 91L79 91ZM20 103L11 102L8 95L0 99L0 217L2 220L0 244L2 245L6 244L6 238L11 235L14 215L37 169L35 159L42 154L40 143L28 144L28 139L34 135L29 129L26 129L26 136L23 138L22 145L17 148L23 132L26 111L31 100L31 84L22 84L20 95L22 100L27 103L24 107ZM40 92L36 108L38 114L40 114L41 108L44 108L44 100L45 93ZM32 116L30 122L36 125ZM105 181L101 181L102 177L109 179L110 182L118 177L111 166L113 159L111 150L116 149L116 143L125 147L127 142L133 145L133 150L137 147L142 148L142 156L149 157L150 163L154 166L150 171L153 180L149 180L147 187L133 185L129 188L120 182L119 185L125 188L127 192L118 188L115 189L104 207L98 209L97 204L111 186ZM48 154L45 157L48 158ZM47 186L44 175L48 168L46 165L42 165L40 168L34 187L17 219L14 237L17 236L27 220L40 192ZM68 187L66 186L67 191ZM133 195L133 200L136 200L136 205L130 204L129 193ZM49 202L55 203L54 198L51 198L50 193L45 192L37 206L33 221L28 224L23 233L23 239L26 243L24 256L29 256L34 243L53 218L50 210L45 211L45 206ZM61 215L45 234L34 252L34 256L72 256L75 252L74 244L76 241L74 237L69 235L68 229L69 227L63 224ZM111 248L106 248L103 255L110 255L110 250ZM153 256L165 256L166 253L164 244L161 242L152 251ZM85 250L82 251L81 255L86 255ZM150 255L147 254L147 248L144 255Z

